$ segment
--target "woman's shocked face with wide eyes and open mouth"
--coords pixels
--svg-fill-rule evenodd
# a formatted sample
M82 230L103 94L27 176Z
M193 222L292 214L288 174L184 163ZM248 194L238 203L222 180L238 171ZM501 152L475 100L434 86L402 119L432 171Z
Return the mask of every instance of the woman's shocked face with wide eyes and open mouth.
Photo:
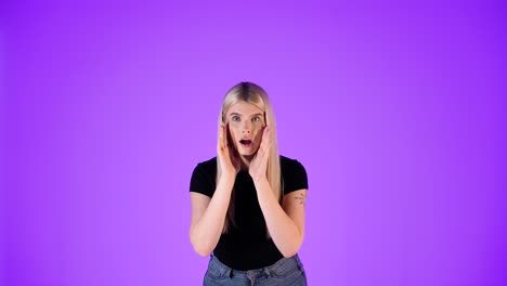
M256 154L265 127L264 112L251 103L238 102L229 108L225 122L239 155Z

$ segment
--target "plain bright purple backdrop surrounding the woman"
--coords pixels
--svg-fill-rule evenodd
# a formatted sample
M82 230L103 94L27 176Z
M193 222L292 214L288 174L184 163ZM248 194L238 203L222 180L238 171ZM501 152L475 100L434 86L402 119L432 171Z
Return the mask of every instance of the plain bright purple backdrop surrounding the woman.
M200 285L229 88L308 171L310 285L506 285L506 6L0 4L0 285Z

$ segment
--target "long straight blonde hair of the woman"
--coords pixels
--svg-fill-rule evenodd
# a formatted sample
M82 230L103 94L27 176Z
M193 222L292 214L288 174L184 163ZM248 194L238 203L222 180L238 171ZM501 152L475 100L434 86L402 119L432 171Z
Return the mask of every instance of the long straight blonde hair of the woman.
M270 183L271 190L275 197L278 198L278 203L282 199L282 182L281 182L281 168L280 168L280 155L278 155L278 143L276 138L276 120L274 117L273 106L268 96L268 93L259 86L252 82L239 82L236 86L232 87L225 98L222 101L222 107L219 114L219 132L220 126L225 122L225 115L229 108L238 102L246 102L256 105L260 109L264 110L264 120L265 125L270 127L272 144L270 148L270 154L268 157L268 166L265 170L265 177ZM217 184L222 176L222 170L220 168L220 158L217 156ZM235 190L233 190L231 195L231 200L229 203L227 216L225 217L225 223L223 225L223 233L227 232L229 225L232 223L234 225L234 198ZM269 233L268 233L269 235Z

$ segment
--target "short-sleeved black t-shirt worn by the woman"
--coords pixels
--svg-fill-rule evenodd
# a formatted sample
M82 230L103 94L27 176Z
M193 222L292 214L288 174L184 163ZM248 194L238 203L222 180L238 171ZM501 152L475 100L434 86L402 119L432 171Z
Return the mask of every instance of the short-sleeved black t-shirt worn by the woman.
M304 167L297 160L280 156L282 191L308 188ZM192 173L191 192L213 196L217 176L217 157L199 162ZM271 265L283 258L272 238L266 236L265 220L257 199L250 174L239 171L234 183L235 225L220 236L213 255L235 270L253 270Z

